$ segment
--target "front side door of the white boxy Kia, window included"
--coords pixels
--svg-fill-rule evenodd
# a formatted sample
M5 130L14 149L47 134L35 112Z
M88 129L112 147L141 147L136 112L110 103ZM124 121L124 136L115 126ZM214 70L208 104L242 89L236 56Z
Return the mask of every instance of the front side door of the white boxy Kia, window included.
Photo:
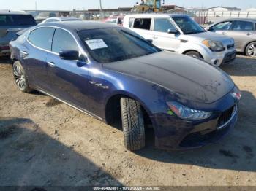
M151 32L151 39L153 44L163 50L170 50L176 52L181 45L181 40L178 39L180 34L171 34L170 31L176 31L168 17L154 18L154 27Z

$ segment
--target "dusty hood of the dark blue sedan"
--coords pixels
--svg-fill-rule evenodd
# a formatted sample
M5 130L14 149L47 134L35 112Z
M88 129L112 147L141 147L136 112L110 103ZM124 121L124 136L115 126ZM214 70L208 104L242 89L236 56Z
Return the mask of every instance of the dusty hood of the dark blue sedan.
M212 103L234 87L232 79L221 69L173 52L105 63L103 67L164 87L183 101Z

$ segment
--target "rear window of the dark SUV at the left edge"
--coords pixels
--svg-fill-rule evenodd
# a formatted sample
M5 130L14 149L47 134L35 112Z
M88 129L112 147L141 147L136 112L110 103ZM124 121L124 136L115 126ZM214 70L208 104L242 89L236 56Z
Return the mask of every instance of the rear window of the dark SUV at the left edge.
M0 15L0 26L35 26L32 15Z

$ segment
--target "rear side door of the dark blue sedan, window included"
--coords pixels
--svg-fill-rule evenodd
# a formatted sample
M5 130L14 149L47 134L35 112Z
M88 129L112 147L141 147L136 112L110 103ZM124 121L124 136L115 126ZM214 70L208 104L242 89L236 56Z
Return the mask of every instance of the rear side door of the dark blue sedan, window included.
M21 62L24 64L29 83L39 89L47 90L46 55L53 39L53 27L39 27L31 31L26 43L20 47Z

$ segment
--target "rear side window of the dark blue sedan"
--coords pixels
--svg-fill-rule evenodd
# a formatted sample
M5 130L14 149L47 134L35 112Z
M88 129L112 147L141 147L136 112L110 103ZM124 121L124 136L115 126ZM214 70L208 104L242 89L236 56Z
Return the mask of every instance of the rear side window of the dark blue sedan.
M54 31L53 27L37 28L29 34L29 42L42 49L50 50Z

